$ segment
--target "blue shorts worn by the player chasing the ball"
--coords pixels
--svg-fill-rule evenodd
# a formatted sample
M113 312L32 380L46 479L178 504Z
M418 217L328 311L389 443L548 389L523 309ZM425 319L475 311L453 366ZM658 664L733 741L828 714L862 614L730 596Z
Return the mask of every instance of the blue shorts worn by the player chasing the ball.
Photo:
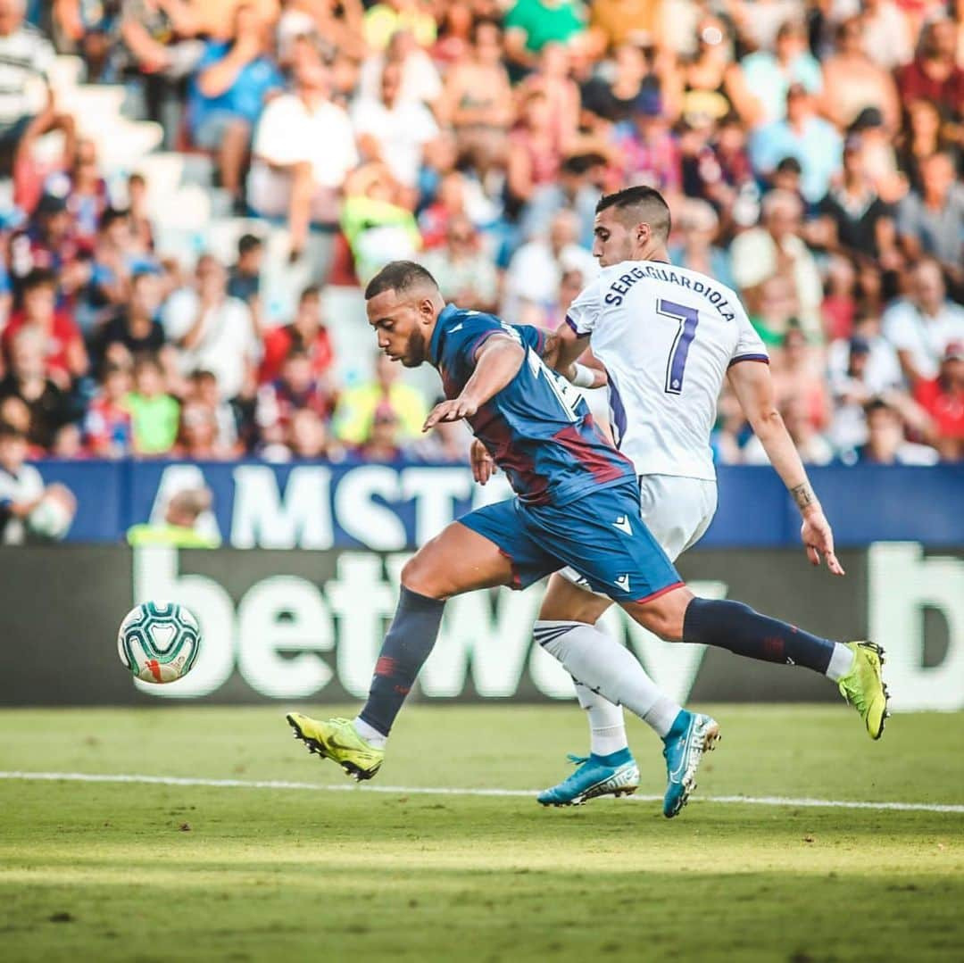
M648 602L683 579L639 515L635 482L591 492L566 505L486 505L458 520L512 562L513 588L565 568L615 602Z

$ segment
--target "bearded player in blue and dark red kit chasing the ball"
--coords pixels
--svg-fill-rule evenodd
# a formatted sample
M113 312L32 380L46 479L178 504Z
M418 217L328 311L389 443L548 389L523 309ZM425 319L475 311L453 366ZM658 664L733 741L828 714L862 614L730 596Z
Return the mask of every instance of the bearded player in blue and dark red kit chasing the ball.
M667 641L764 660L779 643L788 661L823 671L840 643L742 602L696 598L686 588L641 520L632 463L605 439L575 388L550 369L552 335L446 306L432 276L412 261L383 268L365 289L365 300L369 324L389 358L406 367L427 361L442 376L447 400L428 416L425 430L466 419L516 497L450 523L406 563L398 607L359 715L287 715L312 752L356 779L370 779L435 645L446 600L498 585L524 588L565 566ZM695 713L692 721L700 751L712 748L719 734L715 721Z

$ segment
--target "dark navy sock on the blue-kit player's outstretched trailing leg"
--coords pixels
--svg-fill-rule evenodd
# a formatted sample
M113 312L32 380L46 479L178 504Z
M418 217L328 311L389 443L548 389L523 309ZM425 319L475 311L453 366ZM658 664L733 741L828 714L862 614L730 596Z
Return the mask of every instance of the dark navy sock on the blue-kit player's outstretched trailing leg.
M762 662L805 665L825 674L834 643L755 612L743 602L694 599L683 616L683 642L729 649Z

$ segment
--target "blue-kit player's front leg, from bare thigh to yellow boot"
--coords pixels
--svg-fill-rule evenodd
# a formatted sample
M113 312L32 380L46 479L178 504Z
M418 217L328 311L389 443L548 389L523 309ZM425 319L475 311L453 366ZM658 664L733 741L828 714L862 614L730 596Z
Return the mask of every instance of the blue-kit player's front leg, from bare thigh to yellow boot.
M291 712L287 720L296 738L356 779L371 779L382 765L395 716L435 645L445 601L512 580L512 563L494 543L452 522L402 569L398 608L362 711L354 720L321 721Z

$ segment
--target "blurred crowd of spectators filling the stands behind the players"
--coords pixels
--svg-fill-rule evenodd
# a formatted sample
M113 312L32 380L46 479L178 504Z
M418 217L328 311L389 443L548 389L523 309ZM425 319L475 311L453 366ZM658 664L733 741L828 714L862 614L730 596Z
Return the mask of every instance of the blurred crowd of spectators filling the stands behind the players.
M740 293L808 462L964 459L962 19L935 0L0 0L4 437L35 458L461 460L460 428L421 436L434 398L396 365L338 377L338 326L364 322L328 289L416 257L461 306L554 328L598 270L596 201L646 183L674 260ZM159 247L164 198L64 109L65 56L206 158L244 228L230 258ZM310 281L281 318L262 291L279 228ZM765 461L732 397L714 441Z

